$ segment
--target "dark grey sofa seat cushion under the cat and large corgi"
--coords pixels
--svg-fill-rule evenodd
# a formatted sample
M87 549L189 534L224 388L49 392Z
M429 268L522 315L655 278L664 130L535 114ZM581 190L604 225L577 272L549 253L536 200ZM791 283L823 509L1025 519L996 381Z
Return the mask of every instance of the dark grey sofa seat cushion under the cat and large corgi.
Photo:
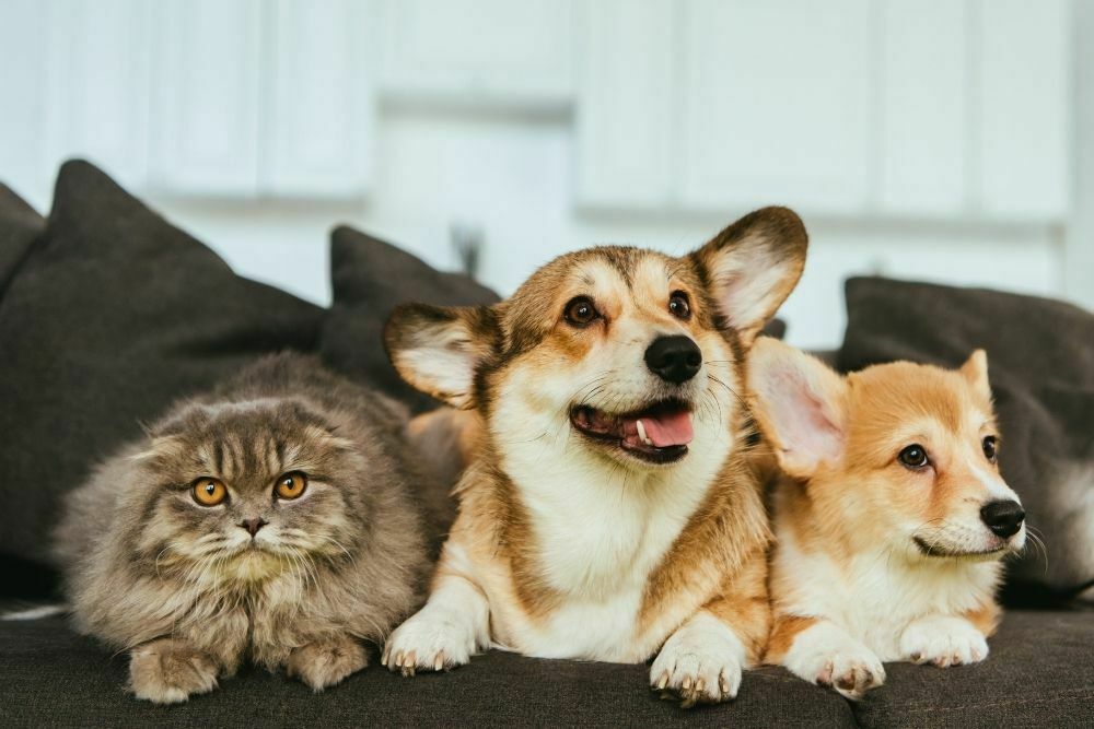
M731 704L688 712L647 686L649 668L490 651L414 679L372 666L315 694L283 672L244 670L210 694L163 707L124 691L128 660L70 632L63 619L0 621L0 726L853 726L837 694L781 669L745 674ZM58 701L58 697L63 697Z

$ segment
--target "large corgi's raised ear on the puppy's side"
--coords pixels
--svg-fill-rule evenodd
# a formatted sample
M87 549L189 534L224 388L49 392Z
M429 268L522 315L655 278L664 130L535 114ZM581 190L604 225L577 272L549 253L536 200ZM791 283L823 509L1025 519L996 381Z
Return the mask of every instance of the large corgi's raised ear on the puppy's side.
M798 284L808 235L787 208L750 212L691 254L721 317L747 346Z

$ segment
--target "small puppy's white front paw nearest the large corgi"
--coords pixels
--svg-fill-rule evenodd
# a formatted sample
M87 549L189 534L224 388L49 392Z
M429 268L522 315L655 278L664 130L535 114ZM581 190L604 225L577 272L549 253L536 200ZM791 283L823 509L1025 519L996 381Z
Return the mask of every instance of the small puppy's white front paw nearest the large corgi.
M782 665L799 678L831 686L852 701L885 683L885 667L876 654L828 623L802 631Z

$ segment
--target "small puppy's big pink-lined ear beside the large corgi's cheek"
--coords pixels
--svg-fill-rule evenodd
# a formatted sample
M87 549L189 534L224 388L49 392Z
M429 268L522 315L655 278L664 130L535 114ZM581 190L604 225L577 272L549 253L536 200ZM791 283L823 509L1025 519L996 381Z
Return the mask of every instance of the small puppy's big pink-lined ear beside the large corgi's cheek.
M807 479L843 455L847 384L816 357L760 337L748 355L753 415L782 469Z

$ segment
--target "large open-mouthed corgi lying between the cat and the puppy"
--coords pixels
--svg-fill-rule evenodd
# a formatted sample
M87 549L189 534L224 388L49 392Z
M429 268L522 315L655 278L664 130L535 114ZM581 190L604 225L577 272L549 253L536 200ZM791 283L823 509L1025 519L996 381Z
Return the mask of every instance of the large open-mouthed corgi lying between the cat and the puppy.
M736 694L770 627L738 393L805 250L798 215L767 208L680 258L591 248L494 306L395 310L395 367L474 409L481 432L389 669L447 669L491 645L615 662L660 650L655 689L685 705Z

